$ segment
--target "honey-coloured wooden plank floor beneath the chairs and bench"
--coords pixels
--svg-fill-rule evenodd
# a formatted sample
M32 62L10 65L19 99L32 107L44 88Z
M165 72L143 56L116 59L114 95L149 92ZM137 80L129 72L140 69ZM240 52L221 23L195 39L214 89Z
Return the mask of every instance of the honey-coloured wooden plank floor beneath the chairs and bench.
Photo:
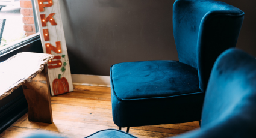
M62 137L85 137L99 130L118 129L111 115L110 88L74 85L75 91L51 97L52 124L29 122L23 115L0 137L26 137L36 133L53 133ZM183 124L131 127L137 137L171 137L199 128L198 121ZM126 131L126 128L122 128Z

